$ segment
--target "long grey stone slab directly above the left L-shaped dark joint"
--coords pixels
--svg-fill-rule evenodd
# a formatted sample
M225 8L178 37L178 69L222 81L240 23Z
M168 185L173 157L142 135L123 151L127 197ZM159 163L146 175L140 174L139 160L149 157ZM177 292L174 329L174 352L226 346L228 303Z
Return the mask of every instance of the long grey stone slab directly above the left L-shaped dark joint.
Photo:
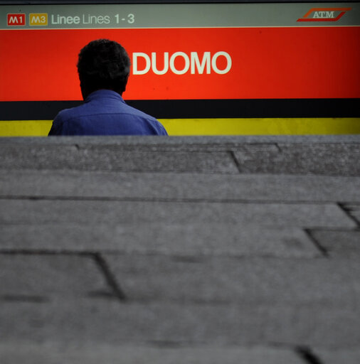
M300 228L228 223L0 225L0 251L122 252L179 256L319 257Z

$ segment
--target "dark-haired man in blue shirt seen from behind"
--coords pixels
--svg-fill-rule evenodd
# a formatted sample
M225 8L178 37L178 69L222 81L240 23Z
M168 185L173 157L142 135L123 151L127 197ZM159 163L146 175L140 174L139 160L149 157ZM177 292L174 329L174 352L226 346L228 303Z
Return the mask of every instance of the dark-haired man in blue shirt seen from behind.
M83 105L64 109L48 135L167 135L157 119L122 99L130 73L125 48L98 39L80 50L78 75Z

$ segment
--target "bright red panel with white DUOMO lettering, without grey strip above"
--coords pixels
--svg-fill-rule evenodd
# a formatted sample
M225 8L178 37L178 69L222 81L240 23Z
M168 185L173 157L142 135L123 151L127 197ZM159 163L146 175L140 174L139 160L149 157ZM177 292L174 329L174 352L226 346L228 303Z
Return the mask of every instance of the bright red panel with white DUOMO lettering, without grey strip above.
M76 63L97 38L132 60L125 100L360 97L360 27L0 31L0 101L81 100Z

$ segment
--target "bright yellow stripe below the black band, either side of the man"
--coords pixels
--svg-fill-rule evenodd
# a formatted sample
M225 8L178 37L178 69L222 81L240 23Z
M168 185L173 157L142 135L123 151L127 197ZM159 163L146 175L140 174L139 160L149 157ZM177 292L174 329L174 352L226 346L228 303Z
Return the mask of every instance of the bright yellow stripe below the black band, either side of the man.
M169 135L360 134L359 117L159 119ZM0 121L0 137L45 137L51 120Z

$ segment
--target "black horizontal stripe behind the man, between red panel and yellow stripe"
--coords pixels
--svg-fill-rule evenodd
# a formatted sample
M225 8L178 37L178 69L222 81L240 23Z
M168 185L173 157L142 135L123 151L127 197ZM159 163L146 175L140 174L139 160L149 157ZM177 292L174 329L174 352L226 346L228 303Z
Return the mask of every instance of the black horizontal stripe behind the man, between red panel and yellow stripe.
M0 102L0 120L51 120L81 101ZM129 100L158 119L213 117L360 117L360 99Z

